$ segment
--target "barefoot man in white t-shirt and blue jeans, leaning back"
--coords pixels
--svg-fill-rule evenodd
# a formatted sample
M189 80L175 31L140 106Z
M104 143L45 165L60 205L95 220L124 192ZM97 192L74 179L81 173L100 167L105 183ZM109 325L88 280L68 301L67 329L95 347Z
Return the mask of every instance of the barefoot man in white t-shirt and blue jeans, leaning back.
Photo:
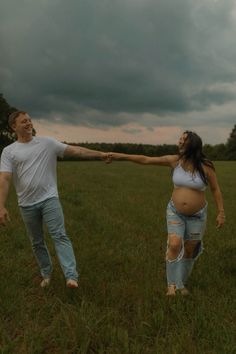
M58 198L57 157L106 159L107 154L79 146L63 144L49 137L33 136L33 124L26 112L10 115L9 126L17 141L3 149L0 164L0 224L5 225L9 214L5 208L13 177L18 204L43 280L41 287L50 284L52 262L44 242L43 223L53 238L56 253L69 288L78 287L78 273L71 241L65 227Z

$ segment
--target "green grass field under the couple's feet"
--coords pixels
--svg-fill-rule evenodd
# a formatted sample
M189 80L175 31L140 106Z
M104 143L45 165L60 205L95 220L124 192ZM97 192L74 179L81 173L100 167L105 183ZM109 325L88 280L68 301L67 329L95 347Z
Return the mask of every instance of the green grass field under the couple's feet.
M204 253L192 295L166 298L168 168L62 162L58 186L80 271L70 290L46 235L54 273L40 277L16 205L1 228L0 353L231 354L235 342L236 162L216 163L226 225L209 202Z

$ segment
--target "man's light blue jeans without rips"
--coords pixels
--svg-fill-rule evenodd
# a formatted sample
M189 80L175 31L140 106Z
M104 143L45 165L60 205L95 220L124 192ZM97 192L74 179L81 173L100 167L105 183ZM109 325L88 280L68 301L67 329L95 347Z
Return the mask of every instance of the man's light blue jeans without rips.
M58 198L49 198L32 206L20 207L32 249L43 278L52 273L52 261L43 236L43 223L51 235L66 279L78 279L76 260L71 241L66 235L64 216Z

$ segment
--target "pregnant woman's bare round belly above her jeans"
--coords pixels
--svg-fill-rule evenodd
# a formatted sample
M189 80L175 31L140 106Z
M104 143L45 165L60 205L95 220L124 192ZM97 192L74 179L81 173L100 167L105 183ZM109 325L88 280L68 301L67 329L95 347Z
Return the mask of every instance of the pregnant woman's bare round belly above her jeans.
M184 215L193 215L206 204L204 192L185 187L174 188L171 199L177 211Z

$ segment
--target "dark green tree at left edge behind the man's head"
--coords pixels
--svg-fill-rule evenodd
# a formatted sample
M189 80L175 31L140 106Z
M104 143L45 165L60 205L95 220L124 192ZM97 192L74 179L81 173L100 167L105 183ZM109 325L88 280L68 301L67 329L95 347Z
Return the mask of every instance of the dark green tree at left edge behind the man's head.
M3 94L0 93L0 150L15 140L14 134L8 126L8 116L16 110L7 103Z

